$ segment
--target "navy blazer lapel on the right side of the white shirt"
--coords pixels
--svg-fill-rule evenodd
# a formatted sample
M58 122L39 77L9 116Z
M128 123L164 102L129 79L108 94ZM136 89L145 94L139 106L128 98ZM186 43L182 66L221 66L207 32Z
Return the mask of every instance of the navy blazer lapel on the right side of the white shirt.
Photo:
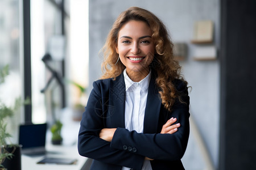
M162 101L159 97L158 88L155 84L155 74L152 72L150 84L148 86L143 133L156 133L158 129L158 119L161 103Z

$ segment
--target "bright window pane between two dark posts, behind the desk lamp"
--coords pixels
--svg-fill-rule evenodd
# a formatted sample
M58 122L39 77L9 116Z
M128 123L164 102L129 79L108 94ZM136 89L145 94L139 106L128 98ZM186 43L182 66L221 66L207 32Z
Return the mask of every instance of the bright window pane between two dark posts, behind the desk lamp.
M51 122L62 108L61 86L55 75L62 78L63 65L61 60L55 61L49 53L49 42L56 35L61 35L61 31L60 8L48 0L31 1L31 87L34 124ZM51 58L46 58L47 54Z

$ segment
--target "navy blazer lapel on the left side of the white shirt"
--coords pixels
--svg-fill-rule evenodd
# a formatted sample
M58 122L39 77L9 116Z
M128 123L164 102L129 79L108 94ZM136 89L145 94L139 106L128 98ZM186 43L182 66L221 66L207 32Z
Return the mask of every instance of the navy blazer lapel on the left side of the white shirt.
M113 128L125 128L125 80L123 74L111 82L109 100L114 109L111 116L112 126Z

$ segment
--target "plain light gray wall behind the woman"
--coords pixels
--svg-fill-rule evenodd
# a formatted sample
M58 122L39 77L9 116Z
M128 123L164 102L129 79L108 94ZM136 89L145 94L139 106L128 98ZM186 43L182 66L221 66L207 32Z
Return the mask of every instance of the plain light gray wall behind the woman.
M183 75L192 86L191 115L195 118L200 133L215 167L218 167L219 115L220 115L220 63L194 61L197 47L191 44L193 24L197 20L210 19L214 22L214 45L220 46L220 2L218 0L91 0L89 1L89 91L92 82L101 75L102 56L98 54L114 20L120 12L130 6L138 6L158 15L167 25L174 42L188 45L188 56L180 62ZM189 137L187 151L183 157L185 169L204 169L205 162L193 133Z

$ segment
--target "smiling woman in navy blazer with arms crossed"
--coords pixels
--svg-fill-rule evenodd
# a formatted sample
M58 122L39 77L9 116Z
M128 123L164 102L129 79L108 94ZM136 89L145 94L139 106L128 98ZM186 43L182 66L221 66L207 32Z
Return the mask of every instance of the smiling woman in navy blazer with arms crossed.
M151 12L122 12L103 48L79 131L91 169L184 169L189 136L187 82L164 24Z

